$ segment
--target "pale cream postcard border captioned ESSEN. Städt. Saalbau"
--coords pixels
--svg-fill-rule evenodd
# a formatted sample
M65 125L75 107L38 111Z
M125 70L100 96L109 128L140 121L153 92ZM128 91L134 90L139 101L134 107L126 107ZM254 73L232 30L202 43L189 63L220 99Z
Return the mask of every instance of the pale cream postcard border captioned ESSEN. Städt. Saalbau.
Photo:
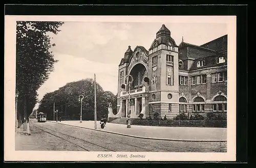
M226 153L118 152L145 158L99 158L115 152L15 151L16 21L226 23L228 34L228 115ZM236 160L236 16L5 16L4 159L5 161L235 161Z

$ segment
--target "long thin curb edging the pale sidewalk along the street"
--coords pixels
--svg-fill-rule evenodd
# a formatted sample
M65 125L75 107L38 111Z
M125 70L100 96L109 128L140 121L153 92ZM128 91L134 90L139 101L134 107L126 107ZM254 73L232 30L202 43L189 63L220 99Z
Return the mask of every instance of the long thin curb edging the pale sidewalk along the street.
M123 134L123 133L118 133L118 132L112 132L112 131L105 131L105 130L100 130L100 129L92 129L92 128L87 128L87 127L81 127L81 126L76 126L76 125L70 125L70 124L65 124L65 123L57 123L53 121L47 121L51 123L56 123L56 124L63 124L63 125L68 125L72 127L78 127L78 128L84 128L84 129L90 129L94 131L101 131L101 132L108 132L108 133L113 133L117 135L123 135L123 136L130 136L130 137L136 137L136 138L142 138L142 139L154 139L154 140L162 140L162 141L182 141L182 142L227 142L227 140L211 140L211 139L169 139L169 138L156 138L156 137L144 137L144 136L135 136L135 135L129 135L129 134Z

